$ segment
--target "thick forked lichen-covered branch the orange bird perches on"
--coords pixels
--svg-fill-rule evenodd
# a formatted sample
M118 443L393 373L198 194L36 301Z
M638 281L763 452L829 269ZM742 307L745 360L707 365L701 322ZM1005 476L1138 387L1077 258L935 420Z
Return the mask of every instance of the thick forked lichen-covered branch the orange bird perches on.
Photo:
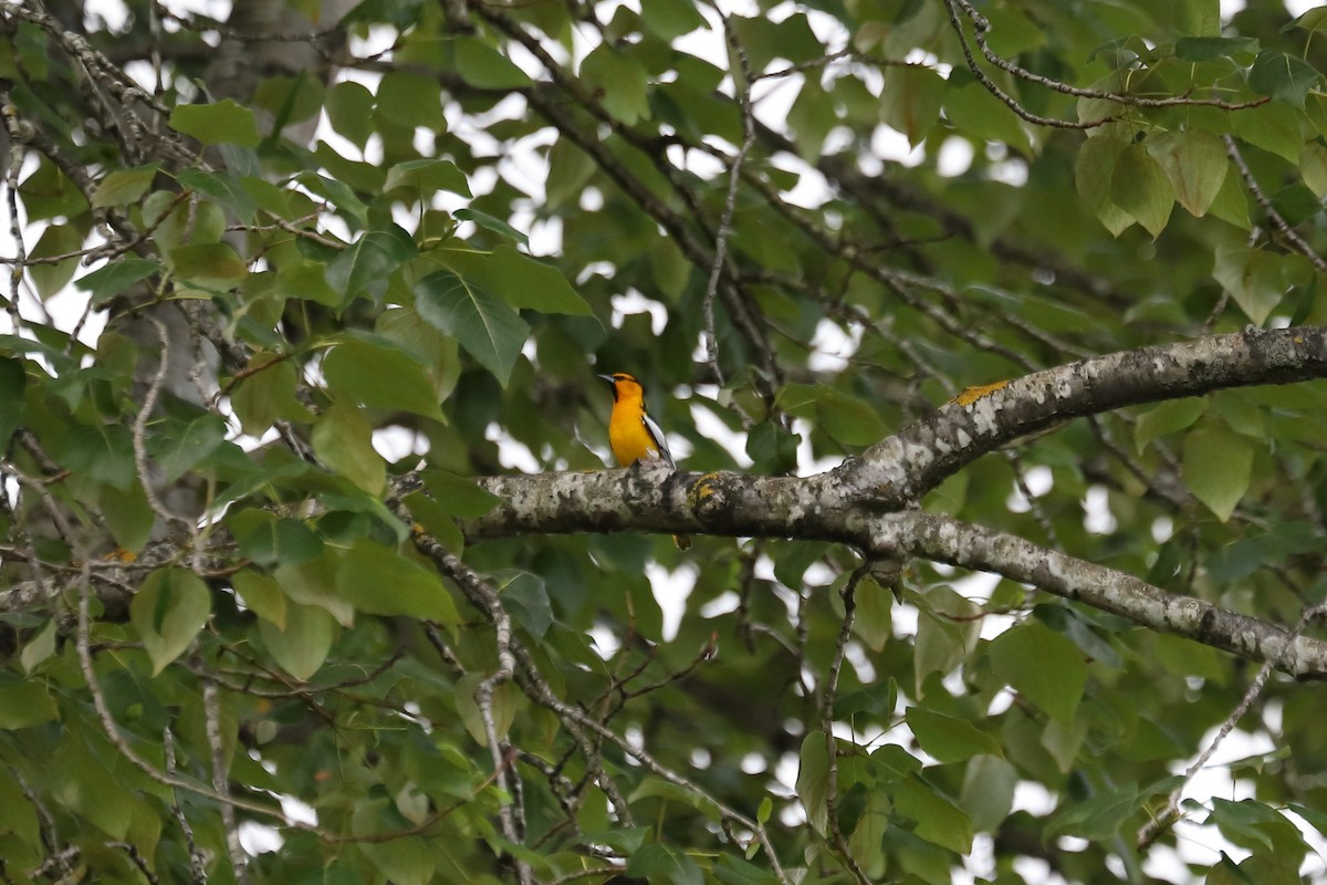
M840 541L872 556L922 556L994 572L1296 677L1327 677L1327 644L1011 535L913 510L926 491L981 455L1070 418L1324 375L1322 328L1249 329L1125 350L975 389L861 458L809 478L660 466L484 478L479 484L503 503L462 531L471 540L644 531Z

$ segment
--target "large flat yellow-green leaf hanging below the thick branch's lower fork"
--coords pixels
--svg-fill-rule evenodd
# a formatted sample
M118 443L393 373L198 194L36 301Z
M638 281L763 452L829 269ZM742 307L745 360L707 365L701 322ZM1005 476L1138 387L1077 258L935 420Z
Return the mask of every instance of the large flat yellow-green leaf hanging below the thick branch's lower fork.
M1026 621L995 637L987 654L995 675L1056 722L1072 724L1087 685L1087 663L1071 640Z

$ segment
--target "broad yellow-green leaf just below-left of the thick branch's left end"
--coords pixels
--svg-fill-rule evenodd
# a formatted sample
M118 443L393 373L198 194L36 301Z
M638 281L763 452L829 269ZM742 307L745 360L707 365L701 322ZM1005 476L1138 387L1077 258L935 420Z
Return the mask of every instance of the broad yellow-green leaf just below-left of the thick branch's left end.
M447 626L460 622L456 604L433 569L401 553L360 539L341 560L336 576L341 597L368 614L402 614Z

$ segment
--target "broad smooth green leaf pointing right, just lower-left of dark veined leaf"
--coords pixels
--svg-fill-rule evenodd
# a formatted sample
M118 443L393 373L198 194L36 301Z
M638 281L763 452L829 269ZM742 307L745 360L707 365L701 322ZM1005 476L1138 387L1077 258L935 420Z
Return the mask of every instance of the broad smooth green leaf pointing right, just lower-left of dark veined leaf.
M386 338L340 341L324 357L322 374L333 399L442 421L426 366Z

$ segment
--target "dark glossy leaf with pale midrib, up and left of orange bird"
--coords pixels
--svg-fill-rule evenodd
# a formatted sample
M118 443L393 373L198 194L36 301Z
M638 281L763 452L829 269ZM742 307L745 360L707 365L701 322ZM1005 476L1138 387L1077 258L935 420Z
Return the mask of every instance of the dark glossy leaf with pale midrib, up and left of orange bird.
M425 322L454 336L504 387L529 337L518 313L455 273L438 271L415 284L415 310Z

